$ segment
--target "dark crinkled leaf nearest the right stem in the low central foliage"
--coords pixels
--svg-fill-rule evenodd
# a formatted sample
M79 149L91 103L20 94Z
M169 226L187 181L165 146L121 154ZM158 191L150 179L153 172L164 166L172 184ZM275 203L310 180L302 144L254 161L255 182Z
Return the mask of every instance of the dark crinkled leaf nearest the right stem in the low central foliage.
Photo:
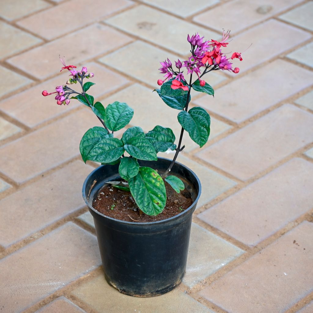
M171 150L176 149L176 145L174 144L175 135L170 128L157 125L152 131L146 133L146 139L152 143L156 153L165 152L169 148Z

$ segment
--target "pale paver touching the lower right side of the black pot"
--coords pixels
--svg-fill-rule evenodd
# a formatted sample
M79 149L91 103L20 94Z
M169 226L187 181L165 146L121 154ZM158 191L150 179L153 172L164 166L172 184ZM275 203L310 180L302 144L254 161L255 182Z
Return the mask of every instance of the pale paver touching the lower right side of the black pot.
M183 283L191 288L243 253L233 244L192 223Z

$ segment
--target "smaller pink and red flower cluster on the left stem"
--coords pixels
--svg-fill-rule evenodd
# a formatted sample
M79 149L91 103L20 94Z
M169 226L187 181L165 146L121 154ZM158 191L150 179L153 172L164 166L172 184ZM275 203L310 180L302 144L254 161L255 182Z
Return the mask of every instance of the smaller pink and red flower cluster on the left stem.
M85 66L83 66L83 68L81 69L81 71L76 71L75 68L77 68L74 65L66 65L64 59L61 59L61 62L63 64L62 69L60 70L60 72L64 69L67 69L71 74L69 76L72 76L72 78L70 78L66 84L67 85L71 85L71 84L76 84L77 81L80 83L80 85L83 85L83 79L84 78L91 78L94 77L93 73L89 73L87 75L87 68ZM72 94L77 94L77 92L75 92L73 89L69 88L67 85L62 85L62 86L56 86L55 87L55 91L54 92L48 92L47 90L44 90L42 92L43 96L49 96L52 94L57 94L55 96L55 100L57 100L57 104L61 105L61 104L66 104L69 105L69 96Z

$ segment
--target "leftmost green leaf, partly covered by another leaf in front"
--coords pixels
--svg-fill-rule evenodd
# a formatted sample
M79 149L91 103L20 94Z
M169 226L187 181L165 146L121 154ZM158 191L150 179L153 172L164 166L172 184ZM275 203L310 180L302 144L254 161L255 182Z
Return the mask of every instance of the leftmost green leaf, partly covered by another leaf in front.
M111 134L108 131L100 126L95 126L90 128L85 132L85 135L80 141L80 154L83 161L86 163L88 159L88 155L90 151L94 148L94 146L100 142L101 139L109 138Z

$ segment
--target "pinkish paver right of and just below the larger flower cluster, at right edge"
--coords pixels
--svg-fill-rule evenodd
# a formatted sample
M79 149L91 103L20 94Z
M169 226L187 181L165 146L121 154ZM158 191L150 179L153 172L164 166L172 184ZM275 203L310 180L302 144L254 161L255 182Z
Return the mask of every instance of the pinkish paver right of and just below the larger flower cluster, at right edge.
M275 80L268 79L269 71L272 70L275 72ZM214 99L204 95L193 102L240 123L310 86L312 81L312 72L283 60L276 60L219 88Z

